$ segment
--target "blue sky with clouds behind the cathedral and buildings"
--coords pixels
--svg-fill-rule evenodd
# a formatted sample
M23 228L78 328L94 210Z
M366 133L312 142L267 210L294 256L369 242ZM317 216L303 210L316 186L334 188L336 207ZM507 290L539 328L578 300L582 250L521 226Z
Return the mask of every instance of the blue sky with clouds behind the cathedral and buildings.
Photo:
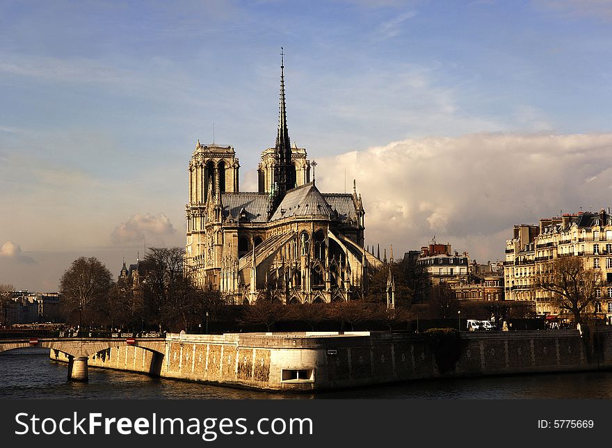
M365 243L504 259L612 206L612 0L0 0L0 283L56 291L184 246L198 139L256 191L280 47L292 142L362 193Z

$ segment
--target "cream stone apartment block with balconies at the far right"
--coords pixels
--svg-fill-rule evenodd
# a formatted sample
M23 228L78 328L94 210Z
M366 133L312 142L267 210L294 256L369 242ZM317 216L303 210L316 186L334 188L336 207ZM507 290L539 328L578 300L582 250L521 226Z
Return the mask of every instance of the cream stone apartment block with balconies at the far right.
M549 301L546 291L535 286L542 265L564 256L581 257L586 267L599 273L601 300L594 311L612 318L612 215L578 212L553 218L541 218L539 225L514 226L513 238L506 241L504 289L506 300L533 301L536 313L555 315L559 310Z

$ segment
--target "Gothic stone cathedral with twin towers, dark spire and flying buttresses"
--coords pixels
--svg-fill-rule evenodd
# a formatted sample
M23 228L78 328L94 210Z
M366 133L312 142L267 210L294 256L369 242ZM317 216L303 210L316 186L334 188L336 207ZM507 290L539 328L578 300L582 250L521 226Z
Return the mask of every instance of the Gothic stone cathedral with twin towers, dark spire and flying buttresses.
M259 191L239 191L232 146L198 140L189 161L186 264L198 286L236 305L362 297L382 262L364 250L361 195L355 182L353 193L321 193L314 166L289 141L281 59L276 144L261 152Z

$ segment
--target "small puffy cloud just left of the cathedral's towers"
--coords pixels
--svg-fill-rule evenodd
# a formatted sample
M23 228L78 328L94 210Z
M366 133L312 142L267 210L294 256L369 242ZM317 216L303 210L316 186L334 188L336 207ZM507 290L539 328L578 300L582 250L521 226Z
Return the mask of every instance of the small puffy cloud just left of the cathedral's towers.
M163 241L163 237L169 237L176 232L172 227L170 219L163 213L156 215L136 214L131 216L125 223L120 223L111 234L114 244L138 243L145 237L152 237L153 243Z

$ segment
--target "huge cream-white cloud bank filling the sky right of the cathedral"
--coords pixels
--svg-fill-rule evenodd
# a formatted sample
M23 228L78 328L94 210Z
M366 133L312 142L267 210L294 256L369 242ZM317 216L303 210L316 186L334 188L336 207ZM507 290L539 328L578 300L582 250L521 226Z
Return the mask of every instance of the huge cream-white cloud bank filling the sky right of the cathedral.
M357 179L366 244L418 249L433 235L478 259L503 259L519 223L608 207L612 134L469 134L408 139L319 159L317 186Z

